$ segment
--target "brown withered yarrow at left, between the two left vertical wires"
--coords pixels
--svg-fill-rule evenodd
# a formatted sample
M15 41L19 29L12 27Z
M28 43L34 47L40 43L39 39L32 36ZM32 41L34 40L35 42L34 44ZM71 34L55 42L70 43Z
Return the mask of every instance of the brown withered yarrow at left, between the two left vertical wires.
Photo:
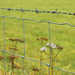
M23 43L24 41L21 40L21 39L13 39L13 38L9 38L9 40L10 40L11 42L15 42L14 47L9 48L10 50L13 50L13 51L14 51L14 54L15 54L15 52L18 50L18 49L17 49L17 44L18 44L19 42L20 42L20 43ZM10 62L11 62L11 65L10 65L10 66L12 67L12 73L13 73L13 75L14 75L14 68L18 68L18 69L21 68L21 67L19 67L17 64L14 63L15 59L17 59L17 58L18 58L18 57L15 56L15 55L9 56L9 60L10 60Z

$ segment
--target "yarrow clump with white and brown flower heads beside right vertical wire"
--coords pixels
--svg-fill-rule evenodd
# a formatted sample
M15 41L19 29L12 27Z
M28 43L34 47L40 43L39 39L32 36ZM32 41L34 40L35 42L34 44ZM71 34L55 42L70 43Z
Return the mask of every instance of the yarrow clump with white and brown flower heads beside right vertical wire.
M44 44L45 42L44 41L48 41L47 38L44 38L44 37L40 37L40 38L37 38L37 41L40 41L41 40L41 48L40 48L40 52L41 52L41 57L40 57L40 61L42 62L42 52L44 52L45 54L47 54L45 51L47 50L47 48L51 49L51 54L52 54L52 58L51 59L51 62L52 62L52 66L53 66L53 61L55 60L55 58L57 57L57 55L59 54L59 52L63 49L62 46L59 46L57 44L54 44L54 43L46 43ZM43 46L45 45L45 46ZM53 49L57 49L58 52L55 56L53 56ZM48 54L47 54L48 55ZM42 68L42 64L40 63L40 75L41 75L41 68ZM53 67L52 67L52 75L53 75Z

